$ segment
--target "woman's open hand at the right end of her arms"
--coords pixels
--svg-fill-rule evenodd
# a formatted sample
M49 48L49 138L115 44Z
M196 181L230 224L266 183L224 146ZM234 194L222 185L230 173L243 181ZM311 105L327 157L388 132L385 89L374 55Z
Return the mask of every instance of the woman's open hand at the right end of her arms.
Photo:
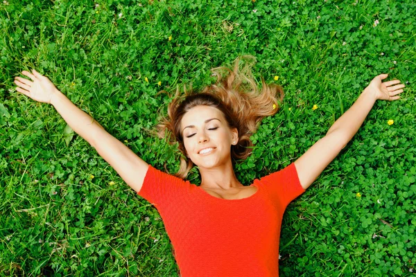
M388 74L381 74L376 76L368 87L365 88L365 91L370 91L374 93L376 99L380 100L397 100L400 96L397 94L403 92L403 88L405 87L404 84L400 84L399 80L392 80L388 82L381 82L387 78Z

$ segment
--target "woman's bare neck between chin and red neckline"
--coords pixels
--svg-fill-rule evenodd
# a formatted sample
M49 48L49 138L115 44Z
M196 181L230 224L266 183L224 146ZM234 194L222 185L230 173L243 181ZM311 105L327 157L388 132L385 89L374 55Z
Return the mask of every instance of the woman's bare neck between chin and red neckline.
M229 190L243 185L236 178L231 160L216 168L200 168L201 187L212 190Z

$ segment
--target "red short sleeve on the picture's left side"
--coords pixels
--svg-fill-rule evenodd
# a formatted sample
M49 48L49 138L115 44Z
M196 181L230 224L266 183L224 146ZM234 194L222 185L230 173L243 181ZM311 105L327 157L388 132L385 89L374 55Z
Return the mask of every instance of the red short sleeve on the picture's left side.
M184 181L149 165L143 185L137 195L140 195L159 209L159 207L174 202L190 186L189 181Z

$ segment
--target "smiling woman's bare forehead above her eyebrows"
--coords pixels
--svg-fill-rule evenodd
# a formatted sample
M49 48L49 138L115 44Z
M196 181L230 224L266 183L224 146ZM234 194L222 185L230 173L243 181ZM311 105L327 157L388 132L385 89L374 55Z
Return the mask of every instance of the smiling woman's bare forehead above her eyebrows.
M221 122L225 122L223 112L217 109L216 107L193 107L182 117L181 129L189 125L202 125L205 123L205 120L211 118L218 118L219 120L221 120Z

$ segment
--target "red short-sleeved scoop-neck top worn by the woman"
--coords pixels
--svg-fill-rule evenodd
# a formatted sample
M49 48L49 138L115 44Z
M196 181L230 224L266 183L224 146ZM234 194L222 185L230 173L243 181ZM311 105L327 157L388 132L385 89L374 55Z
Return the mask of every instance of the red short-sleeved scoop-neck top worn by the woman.
M220 199L149 166L137 194L159 211L182 277L275 277L281 218L304 189L294 163L252 186L250 197Z

